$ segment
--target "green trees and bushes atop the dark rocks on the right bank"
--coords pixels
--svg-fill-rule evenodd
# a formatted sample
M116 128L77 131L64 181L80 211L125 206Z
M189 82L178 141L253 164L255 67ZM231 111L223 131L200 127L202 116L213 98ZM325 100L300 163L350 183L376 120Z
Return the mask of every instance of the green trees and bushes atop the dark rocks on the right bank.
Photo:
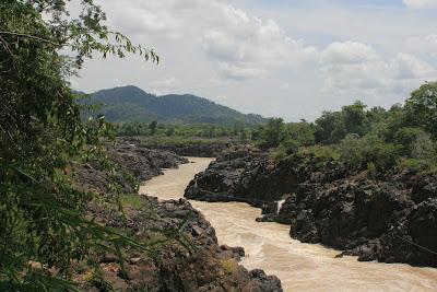
M315 122L270 119L251 135L275 159L312 153L370 171L437 172L437 82L386 110L362 102L324 112Z

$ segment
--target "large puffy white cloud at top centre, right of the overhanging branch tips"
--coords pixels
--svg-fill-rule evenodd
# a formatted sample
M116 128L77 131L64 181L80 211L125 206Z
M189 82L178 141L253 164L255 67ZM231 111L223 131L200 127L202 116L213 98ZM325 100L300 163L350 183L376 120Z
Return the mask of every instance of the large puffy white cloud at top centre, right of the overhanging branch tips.
M316 55L314 47L287 37L272 20L262 21L222 3L215 22L201 42L221 73L228 79L262 77L272 68L305 62Z

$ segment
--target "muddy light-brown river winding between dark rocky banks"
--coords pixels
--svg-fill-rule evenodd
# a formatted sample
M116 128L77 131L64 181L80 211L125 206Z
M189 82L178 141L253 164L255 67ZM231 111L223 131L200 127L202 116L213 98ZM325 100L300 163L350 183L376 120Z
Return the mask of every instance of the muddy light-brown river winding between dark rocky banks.
M146 182L140 192L160 199L182 198L188 183L212 161L189 160ZM221 244L245 248L241 264L247 269L277 276L284 291L437 291L437 269L334 258L339 250L291 238L288 225L256 222L261 210L247 203L190 202L214 226Z

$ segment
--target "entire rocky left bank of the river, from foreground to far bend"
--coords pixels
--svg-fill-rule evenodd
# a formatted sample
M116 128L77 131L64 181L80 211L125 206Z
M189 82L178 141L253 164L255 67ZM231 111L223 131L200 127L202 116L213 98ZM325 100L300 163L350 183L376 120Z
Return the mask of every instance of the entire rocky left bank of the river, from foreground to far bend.
M125 250L122 262L111 254L96 254L95 265L78 264L74 279L86 291L282 291L280 280L262 270L248 271L238 265L244 249L220 246L215 231L185 200L158 201L132 194L133 180L160 175L162 167L177 167L186 160L169 151L150 150L118 142L107 148L117 165L116 180L130 195L121 195L123 213L108 202L88 206L99 224L118 227L145 244ZM114 179L97 165L74 167L78 184L105 197Z

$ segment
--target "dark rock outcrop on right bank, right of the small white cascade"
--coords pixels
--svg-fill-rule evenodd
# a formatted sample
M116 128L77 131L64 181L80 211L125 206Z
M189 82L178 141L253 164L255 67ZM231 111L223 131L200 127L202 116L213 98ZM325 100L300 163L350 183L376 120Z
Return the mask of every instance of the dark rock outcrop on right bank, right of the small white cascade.
M309 179L276 220L292 225L294 238L345 249L359 260L437 267L437 200L429 184L424 191L411 184L394 175L370 179L365 172L326 183ZM421 196L416 203L413 198Z

